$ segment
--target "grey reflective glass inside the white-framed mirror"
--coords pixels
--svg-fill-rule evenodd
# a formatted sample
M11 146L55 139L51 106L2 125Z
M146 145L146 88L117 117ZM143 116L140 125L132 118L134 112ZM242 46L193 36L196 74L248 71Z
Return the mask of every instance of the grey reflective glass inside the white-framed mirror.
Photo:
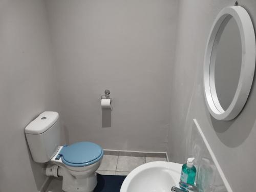
M219 103L227 110L236 93L242 63L242 44L239 27L233 17L227 17L216 39L214 82ZM216 42L215 42L216 43Z

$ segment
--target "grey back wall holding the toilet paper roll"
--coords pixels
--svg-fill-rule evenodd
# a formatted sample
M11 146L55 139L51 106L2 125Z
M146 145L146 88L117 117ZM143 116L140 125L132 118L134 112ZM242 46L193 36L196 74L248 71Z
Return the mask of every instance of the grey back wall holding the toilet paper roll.
M47 9L69 142L166 151L177 1L49 0Z

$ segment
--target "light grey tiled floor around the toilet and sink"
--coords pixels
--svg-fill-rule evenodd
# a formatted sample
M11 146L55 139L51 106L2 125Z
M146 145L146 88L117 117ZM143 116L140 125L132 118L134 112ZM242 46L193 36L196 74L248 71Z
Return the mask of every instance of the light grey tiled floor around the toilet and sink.
M166 158L104 155L96 172L101 175L128 175L136 167L152 161L166 161ZM60 179L53 179L47 192L61 192L61 185Z

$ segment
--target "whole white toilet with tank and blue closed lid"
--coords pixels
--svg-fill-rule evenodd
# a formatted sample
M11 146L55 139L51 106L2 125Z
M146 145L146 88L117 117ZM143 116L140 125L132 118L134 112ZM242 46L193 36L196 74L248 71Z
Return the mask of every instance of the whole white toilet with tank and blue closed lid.
M62 176L62 190L91 192L97 185L96 170L102 148L93 142L77 142L60 146L61 130L57 112L43 112L25 128L33 160L46 163L47 176Z

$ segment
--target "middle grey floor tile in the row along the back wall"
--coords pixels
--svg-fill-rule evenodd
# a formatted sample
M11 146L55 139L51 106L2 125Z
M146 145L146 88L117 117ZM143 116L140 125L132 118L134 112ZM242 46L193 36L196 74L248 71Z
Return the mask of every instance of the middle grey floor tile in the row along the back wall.
M119 156L117 161L117 172L131 172L137 166L145 163L144 157Z

